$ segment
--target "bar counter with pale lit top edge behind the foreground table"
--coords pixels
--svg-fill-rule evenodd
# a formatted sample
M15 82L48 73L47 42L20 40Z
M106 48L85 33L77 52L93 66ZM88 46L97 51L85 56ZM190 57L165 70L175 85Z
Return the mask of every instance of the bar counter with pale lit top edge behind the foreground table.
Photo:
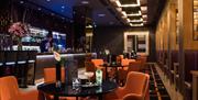
M92 58L97 57L96 53L78 53L78 54L65 54L61 53L61 56L67 60L77 60L78 68L82 68L85 58L87 55L91 55ZM43 69L46 67L55 67L56 60L53 53L37 53L36 56L36 71L35 79L43 77Z

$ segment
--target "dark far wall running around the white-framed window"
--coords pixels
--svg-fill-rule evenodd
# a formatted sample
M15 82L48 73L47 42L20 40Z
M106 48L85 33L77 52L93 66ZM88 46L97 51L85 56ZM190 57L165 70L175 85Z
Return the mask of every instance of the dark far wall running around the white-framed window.
M98 26L94 30L94 52L110 49L112 54L122 54L124 49L123 33L125 31L144 31L147 27ZM155 31L150 30L150 62L155 62Z

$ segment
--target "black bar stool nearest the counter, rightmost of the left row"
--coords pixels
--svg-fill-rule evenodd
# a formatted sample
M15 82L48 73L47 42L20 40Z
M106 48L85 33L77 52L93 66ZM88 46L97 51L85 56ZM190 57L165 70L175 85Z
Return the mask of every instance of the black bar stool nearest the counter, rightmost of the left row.
M33 73L31 71L31 74L30 73L28 74L28 76L32 77L31 79L29 78L31 85L34 85L35 81L36 55L37 55L37 51L29 51L29 59L28 59L29 70L33 68Z

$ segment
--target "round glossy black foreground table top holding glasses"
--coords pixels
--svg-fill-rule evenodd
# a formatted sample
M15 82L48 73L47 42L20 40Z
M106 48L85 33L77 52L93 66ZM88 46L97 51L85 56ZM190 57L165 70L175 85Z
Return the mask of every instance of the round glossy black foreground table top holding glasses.
M44 93L59 97L86 97L108 93L113 91L117 87L117 84L113 81L102 81L101 86L94 87L73 87L62 84L62 87L57 88L55 84L42 84L37 86L37 89Z

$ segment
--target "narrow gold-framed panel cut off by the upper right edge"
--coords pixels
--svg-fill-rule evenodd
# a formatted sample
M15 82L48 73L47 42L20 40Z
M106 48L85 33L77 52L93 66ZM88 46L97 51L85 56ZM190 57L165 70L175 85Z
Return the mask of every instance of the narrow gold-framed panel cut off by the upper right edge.
M194 41L198 41L198 0L194 0Z

